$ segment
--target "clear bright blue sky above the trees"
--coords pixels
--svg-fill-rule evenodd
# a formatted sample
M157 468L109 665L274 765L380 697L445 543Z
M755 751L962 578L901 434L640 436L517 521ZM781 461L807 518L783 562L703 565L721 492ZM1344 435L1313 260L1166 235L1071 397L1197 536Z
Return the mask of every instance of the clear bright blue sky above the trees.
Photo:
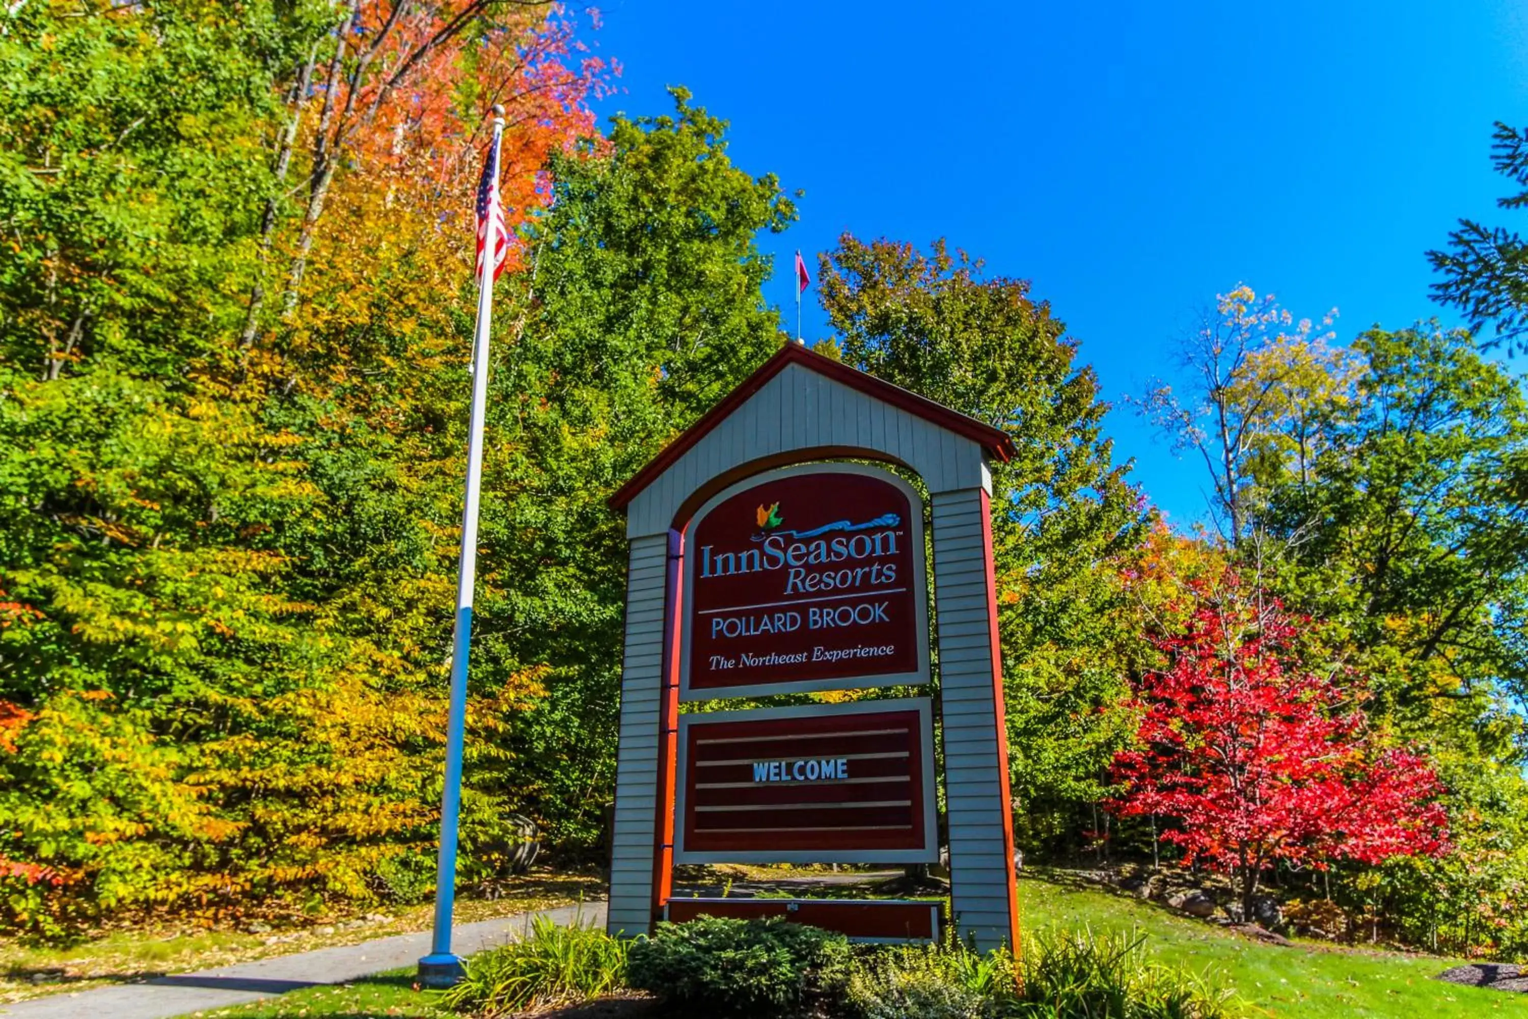
M1496 217L1491 122L1528 121L1528 0L1277 3L648 3L594 34L623 64L602 116L683 84L732 156L801 188L764 237L947 237L1031 280L1114 403L1135 481L1186 524L1204 481L1131 409L1195 309L1245 281L1346 342L1439 315L1423 257ZM810 296L810 293L808 293ZM1445 321L1453 321L1444 315ZM830 330L814 302L808 341Z

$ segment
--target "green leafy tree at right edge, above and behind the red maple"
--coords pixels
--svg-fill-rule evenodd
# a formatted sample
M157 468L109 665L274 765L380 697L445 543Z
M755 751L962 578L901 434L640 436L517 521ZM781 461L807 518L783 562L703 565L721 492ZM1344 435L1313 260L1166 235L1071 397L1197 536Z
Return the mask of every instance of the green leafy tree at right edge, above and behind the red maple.
M1308 481L1270 501L1293 593L1343 620L1363 652L1395 655L1404 718L1426 727L1438 710L1462 710L1485 753L1510 753L1497 739L1516 726L1497 698L1528 703L1517 639L1528 402L1462 330L1374 328L1352 354L1360 370L1328 411Z

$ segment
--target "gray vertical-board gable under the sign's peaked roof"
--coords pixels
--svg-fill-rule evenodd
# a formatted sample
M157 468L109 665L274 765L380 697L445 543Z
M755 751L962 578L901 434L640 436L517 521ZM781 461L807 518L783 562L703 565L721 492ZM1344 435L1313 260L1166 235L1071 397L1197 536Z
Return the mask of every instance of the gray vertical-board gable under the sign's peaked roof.
M645 487L626 507L626 536L660 535L703 484L790 449L856 446L895 457L931 492L984 483L978 443L825 376L787 365Z

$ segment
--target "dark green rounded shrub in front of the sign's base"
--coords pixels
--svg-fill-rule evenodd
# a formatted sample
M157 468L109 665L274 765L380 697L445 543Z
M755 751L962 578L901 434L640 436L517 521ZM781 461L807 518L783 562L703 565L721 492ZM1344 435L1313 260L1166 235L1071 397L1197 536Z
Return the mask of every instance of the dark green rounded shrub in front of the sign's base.
M842 992L850 947L837 933L770 920L703 917L659 924L631 946L633 987L704 1016L781 1019Z

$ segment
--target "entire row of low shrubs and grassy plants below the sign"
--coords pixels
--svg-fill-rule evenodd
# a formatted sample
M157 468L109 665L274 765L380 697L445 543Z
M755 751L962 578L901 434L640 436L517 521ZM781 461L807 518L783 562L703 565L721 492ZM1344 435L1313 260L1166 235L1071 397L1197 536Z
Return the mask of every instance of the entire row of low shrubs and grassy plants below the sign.
M1038 935L1022 958L960 943L859 947L782 920L659 924L651 938L532 921L513 944L468 961L440 1004L501 1016L614 995L666 999L707 1019L1229 1019L1215 981L1146 958L1141 938Z

